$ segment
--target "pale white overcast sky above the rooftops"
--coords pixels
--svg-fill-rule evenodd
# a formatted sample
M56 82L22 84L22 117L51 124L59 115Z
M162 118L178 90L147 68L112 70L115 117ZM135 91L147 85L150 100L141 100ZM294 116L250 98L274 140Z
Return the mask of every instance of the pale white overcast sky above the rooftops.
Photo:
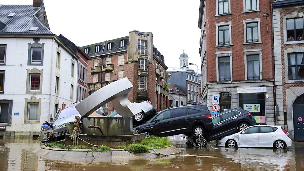
M1 0L0 4L32 4L32 0ZM168 67L179 57L200 69L199 0L44 0L50 30L77 46L128 36L132 30L153 33L154 46ZM191 65L196 71L196 66Z

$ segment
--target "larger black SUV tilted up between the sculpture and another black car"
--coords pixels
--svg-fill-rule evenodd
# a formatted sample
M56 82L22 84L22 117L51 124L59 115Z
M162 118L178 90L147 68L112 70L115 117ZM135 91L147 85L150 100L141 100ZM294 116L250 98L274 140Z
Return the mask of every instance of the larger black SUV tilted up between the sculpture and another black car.
M158 112L143 125L135 127L147 136L173 136L186 134L201 136L213 127L210 112L205 104L175 106Z

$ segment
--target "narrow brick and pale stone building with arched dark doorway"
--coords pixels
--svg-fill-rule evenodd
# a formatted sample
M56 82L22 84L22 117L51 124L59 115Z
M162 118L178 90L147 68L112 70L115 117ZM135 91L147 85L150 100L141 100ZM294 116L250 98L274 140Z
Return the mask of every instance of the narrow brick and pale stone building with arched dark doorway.
M277 0L272 6L276 122L292 139L304 141L304 0Z

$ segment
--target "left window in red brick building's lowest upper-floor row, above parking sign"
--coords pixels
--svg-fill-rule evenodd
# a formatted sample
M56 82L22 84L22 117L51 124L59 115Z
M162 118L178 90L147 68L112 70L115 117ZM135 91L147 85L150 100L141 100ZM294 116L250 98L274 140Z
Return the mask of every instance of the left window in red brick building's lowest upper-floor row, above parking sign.
M230 57L218 58L219 81L230 81Z

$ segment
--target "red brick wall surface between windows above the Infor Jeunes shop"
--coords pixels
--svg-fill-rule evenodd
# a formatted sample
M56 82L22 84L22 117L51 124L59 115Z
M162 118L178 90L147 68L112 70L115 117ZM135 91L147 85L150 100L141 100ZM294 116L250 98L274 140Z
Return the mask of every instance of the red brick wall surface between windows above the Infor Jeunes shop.
M232 22L232 73L233 80L245 80L245 61L244 61L244 24L243 20L261 18L261 44L262 48L262 78L273 79L273 60L272 60L272 21L268 17L268 29L266 32L266 18L263 17L265 12L271 14L271 0L260 0L259 14L257 12L246 13L243 16L243 0L231 0L231 17L228 15L218 16L216 19L216 1L206 0L206 34L207 34L207 82L216 80L216 26L215 23ZM213 66L213 67L211 67Z

